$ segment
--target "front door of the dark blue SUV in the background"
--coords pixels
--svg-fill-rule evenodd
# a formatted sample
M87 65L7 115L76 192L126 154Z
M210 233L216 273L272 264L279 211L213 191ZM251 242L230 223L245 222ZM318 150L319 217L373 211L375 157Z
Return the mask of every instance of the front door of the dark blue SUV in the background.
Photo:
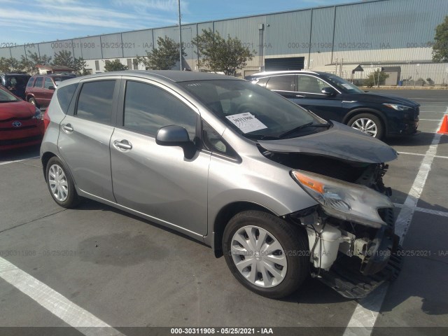
M325 120L342 121L346 112L342 108L341 94L328 96L321 92L323 87L332 86L316 76L297 75L297 92L290 100Z

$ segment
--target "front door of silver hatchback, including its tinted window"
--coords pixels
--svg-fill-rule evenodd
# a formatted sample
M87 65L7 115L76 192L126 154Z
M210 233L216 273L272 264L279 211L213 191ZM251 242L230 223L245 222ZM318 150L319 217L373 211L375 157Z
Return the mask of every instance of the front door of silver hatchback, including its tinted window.
M186 159L182 148L155 143L158 130L167 125L186 128L190 139L197 141L199 112L159 83L128 78L123 85L110 146L117 203L164 225L206 235L211 154L197 151Z

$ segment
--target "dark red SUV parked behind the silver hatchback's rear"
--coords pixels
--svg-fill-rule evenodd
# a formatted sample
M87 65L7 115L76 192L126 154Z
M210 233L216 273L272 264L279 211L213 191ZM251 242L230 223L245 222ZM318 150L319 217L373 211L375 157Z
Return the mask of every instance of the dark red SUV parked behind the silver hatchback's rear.
M34 75L29 78L25 90L25 100L37 107L46 107L50 104L57 85L64 80L76 77L72 73L48 73Z

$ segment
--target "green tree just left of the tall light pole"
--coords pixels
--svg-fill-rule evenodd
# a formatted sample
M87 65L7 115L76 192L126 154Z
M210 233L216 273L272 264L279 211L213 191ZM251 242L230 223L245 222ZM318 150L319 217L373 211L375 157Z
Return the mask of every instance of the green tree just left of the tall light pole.
M143 64L148 69L153 70L169 70L179 61L179 43L172 38L165 36L157 39L158 48L151 51L146 50L146 56L137 56L137 62ZM186 56L184 48L182 55Z

